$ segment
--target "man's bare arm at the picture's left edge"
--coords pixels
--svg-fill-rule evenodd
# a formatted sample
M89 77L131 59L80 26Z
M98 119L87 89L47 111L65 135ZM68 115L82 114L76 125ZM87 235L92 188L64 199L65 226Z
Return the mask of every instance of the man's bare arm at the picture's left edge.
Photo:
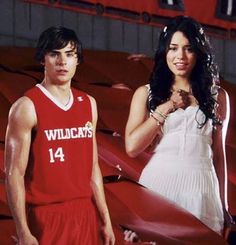
M6 192L19 244L38 244L26 221L24 186L31 131L36 120L34 105L27 97L17 100L10 109L5 140Z

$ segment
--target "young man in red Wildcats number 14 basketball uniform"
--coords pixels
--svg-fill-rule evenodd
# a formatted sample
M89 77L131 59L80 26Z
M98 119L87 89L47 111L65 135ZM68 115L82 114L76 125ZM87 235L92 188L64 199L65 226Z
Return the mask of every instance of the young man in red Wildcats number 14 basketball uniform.
M95 100L71 88L82 59L74 31L45 30L36 58L41 84L18 99L6 133L6 191L18 244L114 244L95 138ZM94 205L95 204L95 205Z

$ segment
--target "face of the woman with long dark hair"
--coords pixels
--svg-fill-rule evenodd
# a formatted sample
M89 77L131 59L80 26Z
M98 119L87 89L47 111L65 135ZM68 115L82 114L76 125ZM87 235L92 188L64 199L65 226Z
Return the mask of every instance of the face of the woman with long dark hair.
M196 54L189 40L180 31L173 34L166 54L166 62L175 78L189 78L196 64Z

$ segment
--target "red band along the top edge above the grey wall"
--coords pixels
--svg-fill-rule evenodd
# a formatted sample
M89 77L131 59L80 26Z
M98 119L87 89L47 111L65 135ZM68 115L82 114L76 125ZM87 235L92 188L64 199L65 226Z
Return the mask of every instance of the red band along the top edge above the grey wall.
M112 18L128 19L130 21L135 21L138 23L145 23L142 19L142 13L146 12L150 15L151 20L149 24L158 25L157 22L153 20L153 15L156 17L170 17L176 15L188 15L192 16L204 25L214 26L216 28L223 28L228 31L235 29L236 31L236 21L221 19L216 16L217 0L204 0L204 1L192 1L185 0L184 10L170 10L160 6L158 0L86 0L86 1L60 1L55 0L55 3L49 3L52 1L48 0L25 0L25 2L40 3L45 4L50 7L64 8L72 11L85 12L89 14L98 14L98 6L104 16L109 16ZM67 2L67 3L66 3ZM72 3L73 6L71 4ZM118 9L120 12L109 10ZM123 14L122 14L123 11ZM133 13L135 16L131 17L127 14L127 11ZM147 24L147 23L146 23ZM160 25L160 23L159 23Z

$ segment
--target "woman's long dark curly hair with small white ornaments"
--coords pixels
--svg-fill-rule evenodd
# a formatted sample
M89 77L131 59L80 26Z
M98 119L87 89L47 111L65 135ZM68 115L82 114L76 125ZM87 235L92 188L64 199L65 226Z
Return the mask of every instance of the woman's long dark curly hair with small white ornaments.
M208 119L213 124L220 123L216 117L216 100L213 90L219 82L218 68L214 62L210 43L201 25L191 17L176 16L168 23L160 34L155 63L150 76L149 110L167 101L171 96L173 73L168 68L166 53L168 52L172 36L180 31L189 40L191 49L196 54L196 64L190 76L192 93L203 111L205 120L198 122L199 127L205 125Z

